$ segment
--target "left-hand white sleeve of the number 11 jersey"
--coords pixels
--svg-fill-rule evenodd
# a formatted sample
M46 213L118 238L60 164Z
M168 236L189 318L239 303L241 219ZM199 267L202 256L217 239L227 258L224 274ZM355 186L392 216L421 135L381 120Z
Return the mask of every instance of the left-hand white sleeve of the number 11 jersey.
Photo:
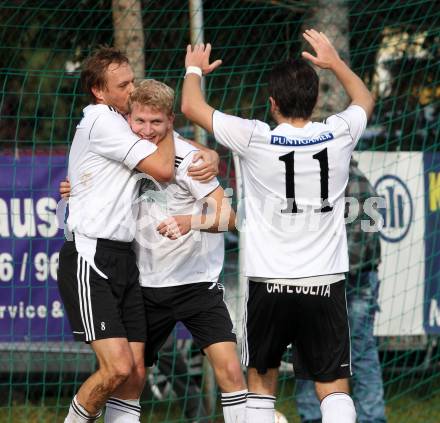
M216 141L240 155L249 147L256 124L256 120L242 119L218 110L212 116Z

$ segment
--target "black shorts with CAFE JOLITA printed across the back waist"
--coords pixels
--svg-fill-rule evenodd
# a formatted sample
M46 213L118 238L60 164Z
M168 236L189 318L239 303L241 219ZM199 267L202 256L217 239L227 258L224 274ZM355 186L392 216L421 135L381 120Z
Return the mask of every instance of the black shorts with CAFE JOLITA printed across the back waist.
M249 281L242 362L278 368L292 344L295 376L330 382L351 376L345 283L299 287Z

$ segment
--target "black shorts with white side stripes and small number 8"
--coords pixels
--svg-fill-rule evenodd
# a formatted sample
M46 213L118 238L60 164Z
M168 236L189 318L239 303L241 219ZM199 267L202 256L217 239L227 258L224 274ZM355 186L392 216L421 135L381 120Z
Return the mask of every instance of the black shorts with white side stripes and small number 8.
M60 251L58 288L76 341L127 338L145 342L145 312L131 243L98 239L98 275L78 254L74 241Z

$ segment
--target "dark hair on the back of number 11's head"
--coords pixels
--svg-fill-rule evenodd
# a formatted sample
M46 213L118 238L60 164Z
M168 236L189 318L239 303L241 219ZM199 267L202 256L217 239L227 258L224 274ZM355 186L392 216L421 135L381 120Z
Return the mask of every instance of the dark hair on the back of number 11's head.
M288 60L271 70L269 95L284 117L308 119L318 100L319 78L303 59Z

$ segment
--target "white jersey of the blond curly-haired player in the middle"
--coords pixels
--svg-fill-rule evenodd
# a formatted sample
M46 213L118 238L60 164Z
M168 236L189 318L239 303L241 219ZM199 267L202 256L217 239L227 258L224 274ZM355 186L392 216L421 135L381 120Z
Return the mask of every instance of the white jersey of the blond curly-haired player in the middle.
M161 288L198 282L217 282L223 267L224 236L190 231L170 240L156 228L173 215L202 213L202 200L218 188L215 178L208 183L187 175L197 148L174 133L175 180L162 183L144 180L141 184L140 211L135 237L140 283Z

